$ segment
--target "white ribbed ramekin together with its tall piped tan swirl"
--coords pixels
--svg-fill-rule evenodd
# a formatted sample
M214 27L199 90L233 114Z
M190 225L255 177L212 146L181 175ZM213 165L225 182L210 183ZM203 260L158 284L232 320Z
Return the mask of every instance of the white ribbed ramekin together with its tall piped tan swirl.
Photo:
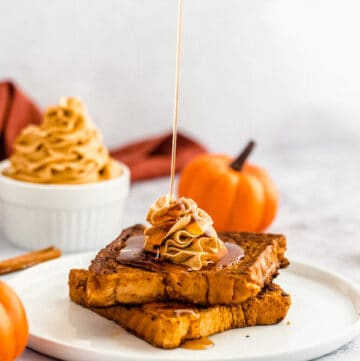
M0 162L1 227L25 249L99 249L121 229L129 188L129 169L109 156L81 101L64 99Z

